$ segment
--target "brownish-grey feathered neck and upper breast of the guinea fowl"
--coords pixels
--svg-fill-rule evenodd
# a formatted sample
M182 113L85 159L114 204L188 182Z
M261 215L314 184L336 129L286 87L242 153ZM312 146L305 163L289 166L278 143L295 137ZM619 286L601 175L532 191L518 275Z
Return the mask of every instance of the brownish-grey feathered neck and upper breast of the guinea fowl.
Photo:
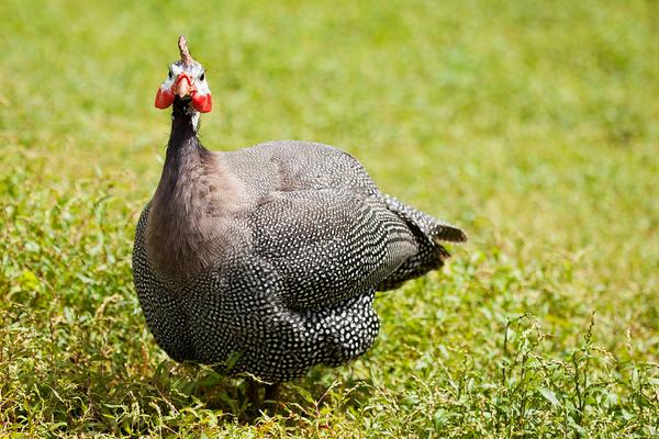
M146 229L153 268L175 281L190 280L213 258L215 230L208 216L217 204L213 182L221 179L216 157L197 138L199 113L177 98L160 182Z

